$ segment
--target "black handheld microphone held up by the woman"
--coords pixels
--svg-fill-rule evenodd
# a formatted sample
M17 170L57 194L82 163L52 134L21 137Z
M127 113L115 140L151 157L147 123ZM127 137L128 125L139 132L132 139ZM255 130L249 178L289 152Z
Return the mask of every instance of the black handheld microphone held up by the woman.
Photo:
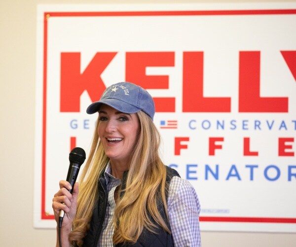
M69 192L72 194L74 183L76 182L76 178L78 176L78 172L80 169L80 166L85 161L85 151L82 148L74 148L69 154L69 170L67 174L67 181L71 184L72 189L69 190ZM59 227L62 226L63 218L64 218L65 212L64 210L60 211L59 215Z

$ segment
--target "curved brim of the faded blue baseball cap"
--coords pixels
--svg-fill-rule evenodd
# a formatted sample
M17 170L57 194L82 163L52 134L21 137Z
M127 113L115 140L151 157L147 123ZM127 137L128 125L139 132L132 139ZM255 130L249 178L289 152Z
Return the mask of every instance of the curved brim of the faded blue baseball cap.
M136 113L141 110L138 107L132 106L118 99L103 99L90 104L86 109L86 113L94 114L98 112L102 104L111 106L112 108L116 109L119 112L128 113L128 114Z

